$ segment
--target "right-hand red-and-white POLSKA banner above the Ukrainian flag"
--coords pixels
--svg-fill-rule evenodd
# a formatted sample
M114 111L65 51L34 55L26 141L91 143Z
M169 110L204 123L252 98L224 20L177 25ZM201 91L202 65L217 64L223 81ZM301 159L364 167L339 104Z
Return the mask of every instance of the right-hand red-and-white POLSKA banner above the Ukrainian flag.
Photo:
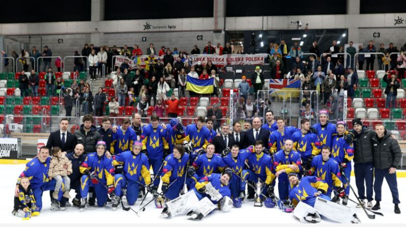
M198 61L201 65L206 65L208 61L211 61L217 67L223 67L225 65L264 64L267 57L267 54L198 54L190 56L189 59L192 61L192 65L197 64Z

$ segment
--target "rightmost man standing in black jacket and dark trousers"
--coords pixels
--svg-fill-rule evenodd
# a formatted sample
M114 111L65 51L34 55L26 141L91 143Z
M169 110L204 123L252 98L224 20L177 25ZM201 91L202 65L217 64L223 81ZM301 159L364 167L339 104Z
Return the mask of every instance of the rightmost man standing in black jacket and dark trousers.
M399 166L402 154L396 139L390 137L383 125L375 126L376 135L373 137L374 167L375 167L375 200L377 203L372 208L379 210L382 197L382 182L384 177L392 193L392 201L395 204L395 213L400 214L398 204L399 193L397 191L396 168Z

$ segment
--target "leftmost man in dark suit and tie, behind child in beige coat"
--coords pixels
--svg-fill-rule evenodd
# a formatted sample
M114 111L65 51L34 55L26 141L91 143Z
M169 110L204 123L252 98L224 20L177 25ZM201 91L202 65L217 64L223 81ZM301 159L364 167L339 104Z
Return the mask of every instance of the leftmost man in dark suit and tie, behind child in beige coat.
M75 149L76 137L74 134L67 131L69 119L62 118L59 122L59 130L51 132L48 137L47 147L51 150L52 147L58 146L62 152L71 153Z

